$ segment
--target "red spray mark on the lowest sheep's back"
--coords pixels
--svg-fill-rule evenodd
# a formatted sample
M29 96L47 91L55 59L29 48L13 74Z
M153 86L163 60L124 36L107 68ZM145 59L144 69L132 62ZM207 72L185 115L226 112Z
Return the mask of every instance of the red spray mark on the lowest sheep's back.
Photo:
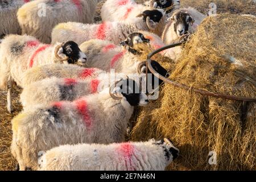
M131 159L134 153L134 146L129 142L121 143L117 148L117 152L122 155L123 159L125 159L125 166L127 170L134 171L135 168L133 167Z

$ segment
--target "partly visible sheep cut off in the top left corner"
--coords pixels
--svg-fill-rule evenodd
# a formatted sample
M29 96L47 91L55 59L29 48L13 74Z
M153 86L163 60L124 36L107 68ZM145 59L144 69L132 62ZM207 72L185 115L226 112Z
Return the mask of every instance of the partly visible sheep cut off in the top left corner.
M0 39L8 34L21 33L16 13L19 7L26 2L29 2L29 0L0 0Z

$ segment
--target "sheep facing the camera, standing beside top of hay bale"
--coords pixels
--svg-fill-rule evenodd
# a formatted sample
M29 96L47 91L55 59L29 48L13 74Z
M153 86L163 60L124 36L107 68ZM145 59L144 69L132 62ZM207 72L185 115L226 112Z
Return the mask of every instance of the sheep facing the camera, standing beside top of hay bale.
M179 42L187 33L195 32L206 16L192 7L175 10L169 23L164 27L162 40L166 44Z

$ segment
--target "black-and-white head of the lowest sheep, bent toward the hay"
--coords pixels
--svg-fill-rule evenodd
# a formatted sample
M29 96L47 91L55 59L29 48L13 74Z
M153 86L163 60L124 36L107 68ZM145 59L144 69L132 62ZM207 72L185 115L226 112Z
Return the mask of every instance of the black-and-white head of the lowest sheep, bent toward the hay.
M167 163L170 164L174 159L179 156L179 149L172 144L170 140L164 138L158 142L155 142L156 145L162 147L161 149L164 152L164 157L167 160Z

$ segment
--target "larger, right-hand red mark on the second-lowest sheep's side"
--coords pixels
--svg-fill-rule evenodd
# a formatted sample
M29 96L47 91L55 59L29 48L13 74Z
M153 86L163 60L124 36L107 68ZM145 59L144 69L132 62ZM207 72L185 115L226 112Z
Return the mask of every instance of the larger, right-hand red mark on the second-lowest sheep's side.
M79 110L80 114L82 115L82 119L85 122L86 127L92 126L92 118L88 113L87 103L83 99L79 99L75 101L76 109Z

